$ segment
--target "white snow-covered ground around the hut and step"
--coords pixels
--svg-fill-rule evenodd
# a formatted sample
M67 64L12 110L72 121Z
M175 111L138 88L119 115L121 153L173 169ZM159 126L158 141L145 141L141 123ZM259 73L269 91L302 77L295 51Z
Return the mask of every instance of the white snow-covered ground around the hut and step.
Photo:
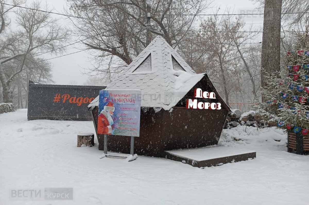
M99 159L97 146L76 147L78 132L94 132L93 123L27 121L25 109L1 114L0 204L309 203L309 156L287 153L286 135L274 128L224 130L220 145L257 157L205 169L155 157ZM37 187L73 187L74 199L9 200L9 189Z

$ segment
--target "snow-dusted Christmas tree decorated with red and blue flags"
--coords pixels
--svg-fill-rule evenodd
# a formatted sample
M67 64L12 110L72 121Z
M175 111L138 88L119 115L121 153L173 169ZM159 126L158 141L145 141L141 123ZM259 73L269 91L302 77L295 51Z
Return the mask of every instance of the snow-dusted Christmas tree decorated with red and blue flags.
M281 73L267 78L261 88L265 102L252 102L252 109L287 132L307 135L309 130L309 35L298 35L294 48L286 53ZM267 69L267 68L265 68ZM299 134L298 134L299 135Z

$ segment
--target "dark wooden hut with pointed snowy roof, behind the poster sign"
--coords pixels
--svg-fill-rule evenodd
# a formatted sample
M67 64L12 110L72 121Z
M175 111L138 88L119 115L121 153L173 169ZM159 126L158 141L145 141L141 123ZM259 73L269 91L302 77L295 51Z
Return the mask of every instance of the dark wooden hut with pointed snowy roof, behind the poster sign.
M216 99L194 98L197 88L214 92ZM165 157L165 150L205 147L218 144L230 108L220 97L206 73L196 74L184 59L157 36L107 90L142 90L140 137L134 153ZM221 110L187 109L187 99L221 103ZM88 106L95 126L98 97ZM99 149L104 135L98 135ZM130 152L130 137L108 135L108 151Z

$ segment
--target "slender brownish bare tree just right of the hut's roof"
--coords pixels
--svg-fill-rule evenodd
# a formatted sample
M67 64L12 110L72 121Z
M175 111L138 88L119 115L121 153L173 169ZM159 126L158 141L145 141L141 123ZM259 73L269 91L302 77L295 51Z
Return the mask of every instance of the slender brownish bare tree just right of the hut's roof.
M199 39L196 43L206 48L204 52L206 62L203 63L206 67L203 72L208 73L220 84L225 101L228 103L229 94L240 89L240 85L235 81L240 70L236 69L239 61L235 60L238 56L234 43L240 38L237 31L242 24L237 19L231 23L230 16L223 18L215 16L203 21L200 27L201 33L197 35Z

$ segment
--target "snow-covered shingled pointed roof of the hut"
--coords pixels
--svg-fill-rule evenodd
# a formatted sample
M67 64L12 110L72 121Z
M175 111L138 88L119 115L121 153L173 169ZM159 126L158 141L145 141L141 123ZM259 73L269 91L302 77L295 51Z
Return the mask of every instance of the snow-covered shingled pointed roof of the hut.
M204 75L196 74L162 36L157 36L106 90L142 90L142 107L170 110ZM97 97L88 107L98 106L98 101Z

